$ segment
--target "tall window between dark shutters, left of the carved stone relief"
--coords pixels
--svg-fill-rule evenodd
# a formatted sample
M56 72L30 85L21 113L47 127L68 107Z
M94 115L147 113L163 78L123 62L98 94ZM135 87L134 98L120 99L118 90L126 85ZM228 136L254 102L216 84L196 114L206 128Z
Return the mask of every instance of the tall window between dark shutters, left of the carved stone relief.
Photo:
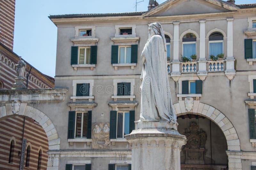
M87 138L87 112L76 112L75 138Z

